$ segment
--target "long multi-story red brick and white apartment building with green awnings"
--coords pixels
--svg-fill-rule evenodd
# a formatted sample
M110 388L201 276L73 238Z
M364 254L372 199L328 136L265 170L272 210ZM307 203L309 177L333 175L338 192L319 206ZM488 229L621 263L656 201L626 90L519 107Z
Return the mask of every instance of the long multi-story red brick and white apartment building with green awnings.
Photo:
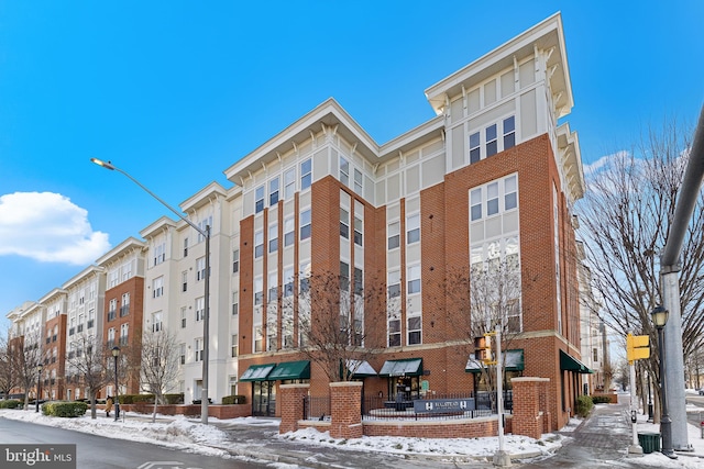
M560 14L426 98L436 116L385 144L329 99L227 168L232 188L212 182L180 204L211 230L213 402L245 394L253 414L280 415L280 383L309 382L311 395L327 395L328 377L300 351L301 317L316 315L300 294L323 271L349 280L350 299L358 289L385 291L344 317L378 333L369 334L377 353L358 370L365 394L482 390L470 359L476 321L468 321L482 301L471 288L454 295L449 279L464 272L460 283L477 284L502 264L519 286L501 317L508 376L549 378L552 427L565 424L590 369L580 353L572 214L584 180L578 136L558 122L573 105ZM190 403L202 389L205 243L167 217L140 235L144 242L129 238L67 282L66 305L38 321L45 334L67 330L66 347L91 314L103 344L139 347L142 331L170 331L180 359L173 392ZM44 301L53 293L42 314ZM23 314L8 315L16 334ZM136 392L135 380L122 386Z

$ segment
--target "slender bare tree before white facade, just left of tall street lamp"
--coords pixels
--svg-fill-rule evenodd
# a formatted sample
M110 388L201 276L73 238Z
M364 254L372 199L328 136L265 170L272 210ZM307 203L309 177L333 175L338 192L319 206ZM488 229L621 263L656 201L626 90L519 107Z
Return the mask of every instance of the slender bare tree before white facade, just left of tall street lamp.
M176 338L167 330L147 331L142 335L140 387L142 391L154 394L152 422L156 422L157 404L165 403L164 394L178 384L178 347Z

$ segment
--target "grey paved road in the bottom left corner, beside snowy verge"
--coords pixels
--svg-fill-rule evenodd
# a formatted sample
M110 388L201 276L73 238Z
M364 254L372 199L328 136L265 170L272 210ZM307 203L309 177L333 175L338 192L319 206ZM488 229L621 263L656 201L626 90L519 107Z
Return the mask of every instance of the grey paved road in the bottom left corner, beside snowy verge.
M196 455L162 446L110 439L102 436L36 425L22 421L0 418L2 444L75 444L77 469L256 469L264 465L243 462L231 458ZM147 465L150 461L169 461L168 465ZM0 467L2 466L0 455Z

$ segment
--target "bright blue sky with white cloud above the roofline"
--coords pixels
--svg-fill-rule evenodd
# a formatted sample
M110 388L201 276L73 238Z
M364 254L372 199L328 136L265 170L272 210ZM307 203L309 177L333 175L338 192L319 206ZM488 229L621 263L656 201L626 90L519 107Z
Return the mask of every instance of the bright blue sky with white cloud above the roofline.
M704 2L0 0L0 325L329 97L382 144L562 12L582 158L704 103Z

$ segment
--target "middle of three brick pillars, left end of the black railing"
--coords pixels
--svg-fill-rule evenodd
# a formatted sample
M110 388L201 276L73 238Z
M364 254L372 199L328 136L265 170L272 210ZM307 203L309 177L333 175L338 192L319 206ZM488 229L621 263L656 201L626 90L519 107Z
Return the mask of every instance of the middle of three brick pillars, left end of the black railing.
M362 383L360 381L330 383L330 437L361 438Z

